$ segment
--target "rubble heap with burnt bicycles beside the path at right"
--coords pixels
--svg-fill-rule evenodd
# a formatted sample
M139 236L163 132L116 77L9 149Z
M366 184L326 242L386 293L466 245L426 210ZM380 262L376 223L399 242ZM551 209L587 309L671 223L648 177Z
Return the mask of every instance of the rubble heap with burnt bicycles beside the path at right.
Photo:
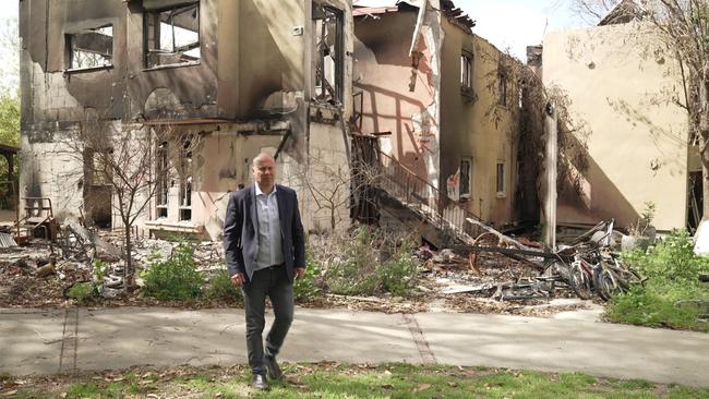
M621 242L628 241L624 238L609 221L569 238L556 251L545 251L529 240L515 241L522 243L520 249L502 245L503 240L495 239L476 240L477 245L460 247L457 253L447 249L436 253L422 246L417 255L424 261L435 290L447 300L458 297L454 300L457 304L469 302L461 295L486 300L478 301L477 306L488 310L501 302L529 305L554 299L608 301L630 285L645 282L616 252Z

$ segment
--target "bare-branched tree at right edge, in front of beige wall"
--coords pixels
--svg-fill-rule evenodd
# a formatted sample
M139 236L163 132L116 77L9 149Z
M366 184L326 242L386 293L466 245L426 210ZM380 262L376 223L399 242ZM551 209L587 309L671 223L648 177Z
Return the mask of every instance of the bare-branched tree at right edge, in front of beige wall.
M602 0L573 0L575 4L600 9ZM699 143L702 165L702 192L709 198L709 1L708 0L623 0L611 11L616 21L640 20L649 24L658 41L674 52L684 98L671 98L684 108L693 140ZM645 32L644 32L645 34ZM702 220L709 217L709 201L704 202Z

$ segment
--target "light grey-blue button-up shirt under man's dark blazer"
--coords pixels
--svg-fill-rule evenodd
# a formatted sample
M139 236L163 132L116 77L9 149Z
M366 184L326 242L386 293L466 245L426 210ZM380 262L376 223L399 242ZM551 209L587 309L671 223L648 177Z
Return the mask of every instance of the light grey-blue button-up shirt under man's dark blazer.
M268 194L264 194L257 183L254 188L259 218L259 254L254 270L259 270L284 263L284 244L280 237L276 186L274 185L274 190Z

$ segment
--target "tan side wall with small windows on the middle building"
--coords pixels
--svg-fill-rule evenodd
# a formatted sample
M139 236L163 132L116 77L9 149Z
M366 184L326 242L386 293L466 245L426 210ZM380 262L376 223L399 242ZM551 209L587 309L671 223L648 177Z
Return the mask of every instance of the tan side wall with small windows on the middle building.
M505 56L485 39L466 34L447 21L443 26L441 180L445 183L456 173L462 157L472 158L467 208L483 220L504 225L515 217L517 90L508 80L506 106L498 105L497 73ZM474 100L460 92L462 50L473 56ZM497 161L505 164L505 193L500 195L496 191Z

